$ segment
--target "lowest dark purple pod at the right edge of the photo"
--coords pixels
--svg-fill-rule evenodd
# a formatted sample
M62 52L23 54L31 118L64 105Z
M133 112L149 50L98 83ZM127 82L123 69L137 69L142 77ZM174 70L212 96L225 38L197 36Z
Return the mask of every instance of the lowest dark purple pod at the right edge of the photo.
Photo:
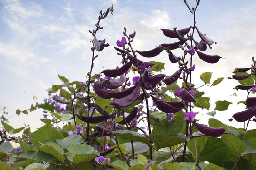
M235 113L232 117L238 122L244 122L251 119L256 114L256 105L245 111Z

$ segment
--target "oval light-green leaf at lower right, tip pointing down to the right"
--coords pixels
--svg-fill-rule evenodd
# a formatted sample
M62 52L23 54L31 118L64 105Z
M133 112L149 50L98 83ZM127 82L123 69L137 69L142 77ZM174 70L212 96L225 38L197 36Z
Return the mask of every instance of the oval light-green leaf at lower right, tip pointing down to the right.
M236 153L241 155L246 150L246 144L237 138L236 136L233 136L232 134L225 134L221 137L221 140L224 144L226 144L229 148L233 149Z

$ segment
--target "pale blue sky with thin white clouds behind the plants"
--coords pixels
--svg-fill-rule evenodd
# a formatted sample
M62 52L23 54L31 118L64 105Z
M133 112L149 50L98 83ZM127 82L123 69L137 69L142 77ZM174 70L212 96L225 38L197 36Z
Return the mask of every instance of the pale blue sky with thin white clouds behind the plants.
M195 0L187 1L190 7L196 4ZM19 117L15 110L43 102L48 97L46 89L52 84L61 84L58 74L70 82L86 80L92 55L92 36L88 30L95 28L99 11L105 11L112 4L113 15L101 21L104 29L97 33L97 38L106 39L110 46L98 53L93 74L121 66L121 58L113 46L121 40L124 27L128 34L136 31L133 48L146 51L176 41L165 37L160 29L182 29L193 24L193 15L183 0L0 0L0 114L6 107L7 118L13 127L22 127L23 123L32 128L42 125L42 110ZM209 64L194 57L196 69L192 81L203 85L199 78L203 72L213 72L211 83L218 77L225 77L221 84L200 90L211 98L209 111L214 110L218 100L233 103L226 111L216 110L215 118L235 127L243 127L243 123L228 119L245 109L237 102L245 100L247 92L233 89L237 81L227 77L236 67L248 68L252 64L256 46L255 8L255 0L201 0L196 11L196 26L217 42L205 53L224 59ZM200 41L198 36L195 38ZM173 52L176 56L182 55L179 50ZM166 75L178 68L164 53L151 59L138 55L138 59L166 62ZM233 93L237 93L237 97ZM207 112L203 110L197 116L205 124L212 118L204 115ZM249 128L255 126L253 123Z

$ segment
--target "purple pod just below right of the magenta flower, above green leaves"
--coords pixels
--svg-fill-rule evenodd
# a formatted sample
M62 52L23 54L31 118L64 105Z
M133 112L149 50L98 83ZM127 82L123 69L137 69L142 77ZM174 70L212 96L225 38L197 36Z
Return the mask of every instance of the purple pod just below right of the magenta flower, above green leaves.
M194 123L194 125L201 133L212 137L220 136L226 131L225 128L208 127L199 123Z

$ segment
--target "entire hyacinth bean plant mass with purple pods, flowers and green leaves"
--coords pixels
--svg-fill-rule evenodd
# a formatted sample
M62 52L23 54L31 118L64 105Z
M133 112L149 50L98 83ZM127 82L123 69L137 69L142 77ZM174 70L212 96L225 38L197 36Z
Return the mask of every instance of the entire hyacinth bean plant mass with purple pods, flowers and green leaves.
M249 97L256 92L256 61L252 58L248 68L235 68L229 77L238 81L236 90L247 92L245 101L238 102L245 110L229 119L244 122L244 127L237 129L214 118L209 119L209 125L200 124L195 119L199 112L194 110L209 110L210 98L192 81L197 65L193 58L199 57L210 66L222 57L207 54L214 41L196 26L200 1L196 0L193 8L184 2L193 16L193 26L161 29L159 34L174 42L156 44L148 51L133 49L136 31L126 28L116 46L108 47L97 32L114 8L100 11L96 27L89 30L92 60L86 81L69 82L58 75L63 84L52 85L45 103L28 109L43 109L41 121L45 125L34 132L28 126L14 129L4 110L0 170L256 170L256 129L247 130L249 123L256 122L256 97ZM195 34L199 40L194 39ZM123 66L92 75L94 60L107 47L117 51L116 59L122 60ZM175 56L174 49L183 55ZM137 59L157 59L161 52L170 62ZM169 65L177 71L170 76L162 74ZM218 85L224 79L209 85L211 74L201 74L204 85ZM229 104L217 101L215 110L225 111ZM28 114L28 110L18 109L16 114ZM215 111L207 114L214 116ZM13 136L21 131L22 136ZM10 141L20 147L13 148Z

